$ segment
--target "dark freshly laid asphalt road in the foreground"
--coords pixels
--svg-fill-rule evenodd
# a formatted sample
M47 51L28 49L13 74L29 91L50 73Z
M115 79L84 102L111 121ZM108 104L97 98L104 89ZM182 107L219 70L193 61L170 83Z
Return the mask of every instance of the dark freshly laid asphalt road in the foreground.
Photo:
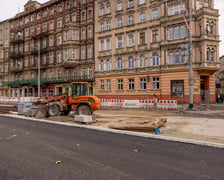
M224 149L0 117L10 179L223 180Z

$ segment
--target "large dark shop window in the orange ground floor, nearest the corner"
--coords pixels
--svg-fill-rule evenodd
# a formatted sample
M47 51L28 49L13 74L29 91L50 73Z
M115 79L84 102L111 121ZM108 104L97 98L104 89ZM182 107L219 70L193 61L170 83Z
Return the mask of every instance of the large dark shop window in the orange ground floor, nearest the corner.
M184 94L184 81L175 80L171 81L171 97L182 97Z

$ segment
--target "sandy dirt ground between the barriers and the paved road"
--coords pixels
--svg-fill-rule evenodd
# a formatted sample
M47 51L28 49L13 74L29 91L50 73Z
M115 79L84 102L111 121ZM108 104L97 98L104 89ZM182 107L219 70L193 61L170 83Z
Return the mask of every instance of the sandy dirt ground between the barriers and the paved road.
M93 115L94 123L83 125L109 128L130 119L165 117L167 122L160 128L164 136L224 143L224 117L222 110L217 111L182 113L179 111L98 110ZM48 120L77 123L73 117L67 116L49 117ZM217 127L214 126L215 124ZM152 130L146 133L155 134Z

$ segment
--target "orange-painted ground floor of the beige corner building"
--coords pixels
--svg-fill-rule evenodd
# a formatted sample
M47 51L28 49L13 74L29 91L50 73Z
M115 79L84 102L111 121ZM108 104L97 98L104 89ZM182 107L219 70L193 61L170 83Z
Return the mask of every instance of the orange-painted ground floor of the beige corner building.
M153 99L189 102L189 73L185 71L148 72L96 77L95 95L105 99ZM215 75L193 71L195 103L215 102Z

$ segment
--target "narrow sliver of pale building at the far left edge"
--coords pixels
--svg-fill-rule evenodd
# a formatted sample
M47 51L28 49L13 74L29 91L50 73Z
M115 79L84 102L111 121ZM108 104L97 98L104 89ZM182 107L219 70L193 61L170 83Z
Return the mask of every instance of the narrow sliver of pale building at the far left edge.
M0 22L0 96L8 96L9 22Z

